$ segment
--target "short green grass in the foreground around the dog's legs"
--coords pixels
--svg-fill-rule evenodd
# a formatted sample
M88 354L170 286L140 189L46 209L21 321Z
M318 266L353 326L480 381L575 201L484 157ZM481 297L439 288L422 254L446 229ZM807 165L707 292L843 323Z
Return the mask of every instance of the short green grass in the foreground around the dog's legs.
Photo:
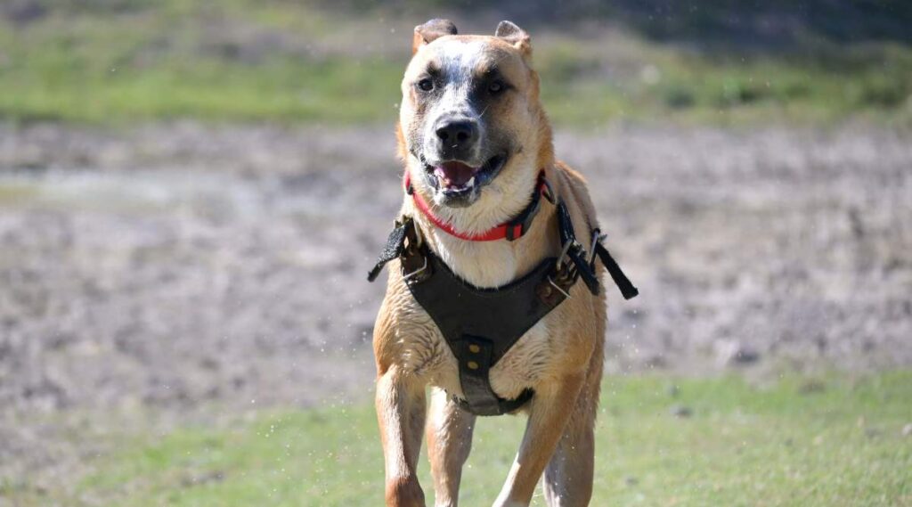
M609 378L593 505L912 505L912 371L853 380ZM688 417L674 415L689 410ZM523 418L482 419L466 505L492 502ZM68 496L0 489L14 505L379 505L382 457L365 404L261 414L235 429L133 437ZM427 461L420 473L432 499ZM62 494L62 493L61 493ZM544 505L536 495L534 505Z

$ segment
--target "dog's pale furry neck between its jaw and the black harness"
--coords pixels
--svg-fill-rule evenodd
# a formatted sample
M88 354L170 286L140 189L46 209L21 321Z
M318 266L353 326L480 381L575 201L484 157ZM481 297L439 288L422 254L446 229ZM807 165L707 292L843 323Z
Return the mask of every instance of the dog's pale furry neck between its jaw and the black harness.
M536 160L537 161L537 160ZM514 171L501 174L482 190L477 202L465 208L451 208L434 202L426 185L416 185L415 191L430 203L431 212L441 220L450 223L461 233L478 234L507 222L529 204L537 186L537 175L549 167L512 168ZM420 168L409 167L411 177L421 177ZM506 189L510 189L507 191ZM558 248L554 225L554 206L543 202L528 232L522 237L508 241L468 241L447 233L430 221L418 210L408 195L403 212L413 218L430 249L443 260L455 274L478 287L497 287L513 281L531 271L545 257L553 255Z

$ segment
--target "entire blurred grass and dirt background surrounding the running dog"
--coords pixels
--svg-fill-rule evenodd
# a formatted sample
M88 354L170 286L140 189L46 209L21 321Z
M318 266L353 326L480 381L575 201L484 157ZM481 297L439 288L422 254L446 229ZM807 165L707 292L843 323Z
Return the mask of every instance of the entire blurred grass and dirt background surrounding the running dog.
M605 432L735 414L732 441L775 440L741 398L779 410L775 386L786 424L824 393L780 439L818 453L762 455L782 478L741 504L865 450L799 504L912 504L912 3L3 0L0 506L380 502L365 274L430 17L531 34L558 156L640 288L608 290ZM733 454L705 488L649 475L636 420L594 504L758 492Z

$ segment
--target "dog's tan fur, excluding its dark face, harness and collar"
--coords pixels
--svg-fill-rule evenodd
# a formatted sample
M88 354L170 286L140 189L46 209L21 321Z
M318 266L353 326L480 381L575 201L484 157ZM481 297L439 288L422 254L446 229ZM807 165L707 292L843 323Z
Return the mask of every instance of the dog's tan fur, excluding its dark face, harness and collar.
M419 27L421 28L421 27ZM508 27L509 28L509 27ZM501 31L501 28L498 28ZM427 32L424 30L423 32ZM581 241L597 227L586 181L554 160L551 129L538 99L538 78L530 67L529 38L512 29L509 39L490 36L430 36L416 29L415 54L403 80L403 104L397 137L406 171L415 191L434 212L463 232L477 233L513 217L528 202L538 171L545 171L555 193L567 204ZM420 163L409 154L406 135L414 128L419 108L412 80L444 45L481 42L479 65L496 57L517 90L509 104L489 117L511 132L523 147L500 175L466 208L434 202L432 189L420 178ZM451 48L446 48L451 50ZM476 50L473 46L472 50ZM415 219L430 248L462 278L481 287L495 287L529 272L559 253L554 206L543 203L529 233L514 242L466 242L434 227L414 209L410 198L401 212ZM588 247L588 245L586 245ZM599 267L599 276L602 268ZM604 294L604 291L603 291ZM494 391L514 398L526 387L535 390L523 408L528 425L523 443L503 490L494 505L528 505L544 473L549 505L587 505L592 491L593 425L602 377L606 326L604 295L591 295L577 283L571 298L530 329L491 370ZM445 395L461 395L458 367L437 326L409 293L398 261L389 264L387 293L374 329L377 358L377 412L386 457L388 505L424 505L416 475L426 386L433 387L425 433L438 506L456 505L461 467L471 449L474 416Z

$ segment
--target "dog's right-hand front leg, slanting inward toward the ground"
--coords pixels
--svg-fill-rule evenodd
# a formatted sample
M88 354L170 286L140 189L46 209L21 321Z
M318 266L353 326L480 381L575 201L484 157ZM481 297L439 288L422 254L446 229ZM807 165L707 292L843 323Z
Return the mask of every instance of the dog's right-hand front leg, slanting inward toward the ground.
M584 377L582 372L571 374L545 388L536 388L523 443L494 507L523 506L532 501L535 484L564 433Z

